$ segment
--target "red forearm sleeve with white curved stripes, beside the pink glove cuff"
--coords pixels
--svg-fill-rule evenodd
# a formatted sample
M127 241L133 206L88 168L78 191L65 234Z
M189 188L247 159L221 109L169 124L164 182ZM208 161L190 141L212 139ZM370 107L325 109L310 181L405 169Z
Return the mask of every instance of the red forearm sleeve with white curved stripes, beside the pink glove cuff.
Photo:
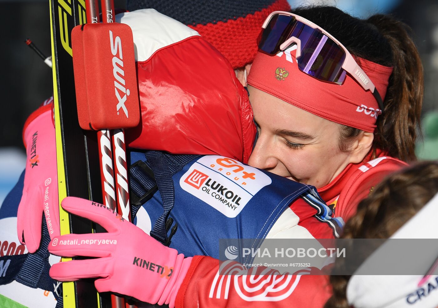
M228 263L229 271L236 273L242 269L236 262ZM315 270L318 271L312 268ZM328 276L310 275L310 269L298 275L280 275L265 267L250 271L255 274L219 275L219 260L195 256L178 291L175 307L319 308L331 295Z

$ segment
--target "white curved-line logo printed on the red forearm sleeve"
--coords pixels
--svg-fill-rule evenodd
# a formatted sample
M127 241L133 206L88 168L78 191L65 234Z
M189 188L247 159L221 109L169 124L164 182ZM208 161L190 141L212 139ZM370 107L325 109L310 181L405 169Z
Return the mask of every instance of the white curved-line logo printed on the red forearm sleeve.
M300 272L309 273L308 270ZM215 275L208 297L228 299L229 293L232 292L232 296L237 295L244 301L283 301L293 293L300 278L299 274L280 275L274 269L262 267L247 269L236 262L225 261L221 263Z

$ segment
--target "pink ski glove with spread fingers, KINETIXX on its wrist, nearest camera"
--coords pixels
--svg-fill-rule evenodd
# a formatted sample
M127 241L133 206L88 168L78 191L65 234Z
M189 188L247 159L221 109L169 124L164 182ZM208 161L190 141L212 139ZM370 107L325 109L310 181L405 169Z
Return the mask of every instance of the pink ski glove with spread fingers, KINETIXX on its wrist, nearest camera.
M99 292L114 292L151 304L175 306L175 298L191 263L177 250L166 247L113 210L92 201L67 197L61 206L101 225L108 233L67 234L53 238L49 252L98 259L54 264L50 276L59 281L102 277Z

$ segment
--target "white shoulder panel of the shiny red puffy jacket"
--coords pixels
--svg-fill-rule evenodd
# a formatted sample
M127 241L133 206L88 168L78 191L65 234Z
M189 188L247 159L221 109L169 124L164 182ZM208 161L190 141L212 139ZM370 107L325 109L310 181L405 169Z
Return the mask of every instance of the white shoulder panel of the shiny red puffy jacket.
M158 49L199 35L197 31L154 9L117 14L116 22L131 27L135 60L138 62L146 61Z

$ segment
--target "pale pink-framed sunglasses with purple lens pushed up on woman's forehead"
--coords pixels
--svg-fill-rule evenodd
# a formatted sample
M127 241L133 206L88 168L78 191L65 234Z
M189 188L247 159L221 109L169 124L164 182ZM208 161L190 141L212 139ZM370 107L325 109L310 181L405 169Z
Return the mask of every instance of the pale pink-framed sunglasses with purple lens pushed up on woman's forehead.
M270 56L297 45L298 68L320 81L343 84L346 74L364 90L370 90L383 111L383 102L374 84L348 50L313 22L289 12L272 12L258 36L258 49Z

